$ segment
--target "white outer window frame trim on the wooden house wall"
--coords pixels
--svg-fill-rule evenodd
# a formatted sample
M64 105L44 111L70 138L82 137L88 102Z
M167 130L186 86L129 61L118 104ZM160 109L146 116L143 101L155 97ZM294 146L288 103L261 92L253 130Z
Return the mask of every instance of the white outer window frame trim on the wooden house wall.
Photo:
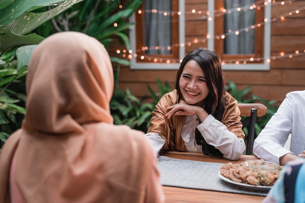
M208 0L208 9L210 12L210 15L208 16L208 19L211 18L211 20L208 20L208 34L210 35L210 38L208 39L208 49L214 50L214 0ZM179 0L179 11L181 11L181 15L179 16L179 44L185 44L185 0ZM268 71L270 70L270 39L271 39L271 3L268 2L267 6L265 6L265 19L267 19L267 22L264 24L264 62L263 63L251 63L251 64L229 64L226 63L222 65L223 70L239 70L239 71ZM131 22L135 22L135 15L130 18ZM129 29L129 35L130 35L130 45L132 53L136 53L136 44L135 44L135 25L130 27ZM184 58L185 56L185 47L180 46L179 47L179 57L180 60ZM180 63L139 63L136 61L135 57L132 57L130 59L131 66L130 69L133 70L175 70L178 69L180 66Z

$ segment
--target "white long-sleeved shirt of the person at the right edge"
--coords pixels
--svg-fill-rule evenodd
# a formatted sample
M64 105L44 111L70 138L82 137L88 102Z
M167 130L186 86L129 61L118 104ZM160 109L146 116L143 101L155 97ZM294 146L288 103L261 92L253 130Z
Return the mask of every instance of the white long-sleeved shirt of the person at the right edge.
M284 148L291 133L290 151ZM305 90L286 94L277 112L254 140L253 153L266 161L279 164L287 153L305 150Z

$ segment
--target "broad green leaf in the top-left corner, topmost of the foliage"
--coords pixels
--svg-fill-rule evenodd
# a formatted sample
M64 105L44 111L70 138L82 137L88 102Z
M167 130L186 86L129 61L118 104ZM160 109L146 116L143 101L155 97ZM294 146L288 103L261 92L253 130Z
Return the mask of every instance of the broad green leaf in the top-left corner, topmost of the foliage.
M49 6L61 1L63 0L14 0L0 10L0 26L11 23L21 14L29 12L34 8Z

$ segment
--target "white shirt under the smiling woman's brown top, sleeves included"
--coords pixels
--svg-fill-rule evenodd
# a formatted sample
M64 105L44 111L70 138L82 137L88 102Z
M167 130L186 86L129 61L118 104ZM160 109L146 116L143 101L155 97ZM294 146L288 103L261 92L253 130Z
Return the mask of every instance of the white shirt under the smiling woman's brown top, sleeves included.
M202 145L195 141L195 128L201 132L206 142L219 149L224 157L229 160L237 160L246 149L245 141L238 138L227 127L209 115L201 124L196 115L187 116L181 137L184 140L186 151L202 152ZM158 134L149 132L145 134L152 143L155 153L158 155L164 146L165 140Z

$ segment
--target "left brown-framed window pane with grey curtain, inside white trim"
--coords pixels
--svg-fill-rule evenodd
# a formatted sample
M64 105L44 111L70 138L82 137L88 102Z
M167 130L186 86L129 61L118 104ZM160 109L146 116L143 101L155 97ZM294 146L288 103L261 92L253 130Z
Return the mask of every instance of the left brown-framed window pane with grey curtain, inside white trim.
M137 63L168 63L179 58L178 11L178 0L143 0L135 13Z

